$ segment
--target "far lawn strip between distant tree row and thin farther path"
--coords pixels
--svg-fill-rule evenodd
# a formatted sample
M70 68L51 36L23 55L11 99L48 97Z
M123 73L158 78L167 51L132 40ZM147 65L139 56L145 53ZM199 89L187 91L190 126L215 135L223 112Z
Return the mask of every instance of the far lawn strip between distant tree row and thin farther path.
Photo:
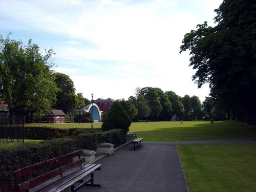
M213 135L213 136L248 136L256 135L256 126L237 121L218 121L213 125L208 121L136 122L130 126L130 132L159 134Z

